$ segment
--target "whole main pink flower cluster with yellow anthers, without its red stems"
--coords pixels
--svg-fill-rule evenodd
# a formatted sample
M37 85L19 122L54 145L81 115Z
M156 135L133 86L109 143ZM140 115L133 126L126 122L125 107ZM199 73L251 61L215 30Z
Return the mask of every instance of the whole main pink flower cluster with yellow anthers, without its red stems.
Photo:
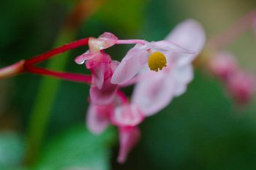
M120 63L104 51L117 44L136 44ZM159 42L121 40L110 33L89 38L89 51L75 58L91 71L86 125L94 134L110 124L118 127L119 163L126 161L140 139L138 125L186 91L193 78L192 61L204 44L203 28L195 20L180 23ZM132 84L135 89L129 100L121 88Z

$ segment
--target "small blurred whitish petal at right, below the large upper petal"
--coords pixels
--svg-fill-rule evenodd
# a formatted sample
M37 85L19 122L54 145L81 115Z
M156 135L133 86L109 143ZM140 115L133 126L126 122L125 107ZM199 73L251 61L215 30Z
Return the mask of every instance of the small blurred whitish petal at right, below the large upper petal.
M173 95L181 96L187 90L187 84L192 81L193 77L194 74L191 64L173 66L170 72L170 79L174 84Z

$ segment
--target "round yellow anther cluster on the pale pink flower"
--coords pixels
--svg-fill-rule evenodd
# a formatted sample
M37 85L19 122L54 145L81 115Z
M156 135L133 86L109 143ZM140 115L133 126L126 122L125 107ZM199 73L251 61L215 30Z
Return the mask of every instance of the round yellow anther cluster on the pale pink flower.
M165 55L159 51L151 53L148 58L148 67L155 72L158 72L158 69L162 70L166 66L166 63Z

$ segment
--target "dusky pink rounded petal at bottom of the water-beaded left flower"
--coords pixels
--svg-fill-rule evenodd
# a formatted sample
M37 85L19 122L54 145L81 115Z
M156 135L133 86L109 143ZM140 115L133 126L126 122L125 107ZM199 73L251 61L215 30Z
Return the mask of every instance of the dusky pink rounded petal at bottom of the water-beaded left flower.
M103 82L102 89L100 90L97 86L91 86L91 102L99 105L110 104L110 102L113 101L117 87L117 85L110 83L110 78Z

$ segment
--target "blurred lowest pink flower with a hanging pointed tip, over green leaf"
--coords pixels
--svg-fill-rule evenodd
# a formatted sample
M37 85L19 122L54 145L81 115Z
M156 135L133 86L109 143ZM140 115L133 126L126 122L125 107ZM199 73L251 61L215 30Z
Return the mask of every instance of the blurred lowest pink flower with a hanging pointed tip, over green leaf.
M90 104L87 115L87 127L94 134L100 134L111 123L118 127L120 149L118 162L124 163L129 151L140 139L138 125L144 120L144 114L136 104L111 104L100 106Z

